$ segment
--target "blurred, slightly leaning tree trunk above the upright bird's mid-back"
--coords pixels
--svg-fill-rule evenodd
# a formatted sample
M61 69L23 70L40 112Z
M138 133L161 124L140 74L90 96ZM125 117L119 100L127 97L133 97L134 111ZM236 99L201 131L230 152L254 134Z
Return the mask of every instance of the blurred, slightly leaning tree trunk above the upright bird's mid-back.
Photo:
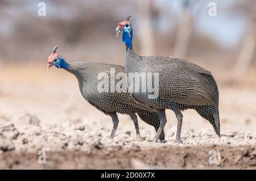
M189 8L189 1L183 1L183 10L177 27L174 54L176 57L185 58L188 52L189 40L192 33L192 12Z

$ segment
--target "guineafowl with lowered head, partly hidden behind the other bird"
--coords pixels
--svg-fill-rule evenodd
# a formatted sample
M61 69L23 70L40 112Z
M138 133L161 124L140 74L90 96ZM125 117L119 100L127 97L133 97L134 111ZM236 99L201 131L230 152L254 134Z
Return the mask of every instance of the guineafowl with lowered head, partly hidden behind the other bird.
M135 113L138 113L143 121L152 125L155 131L158 131L160 127L158 112L149 106L137 102L127 92L126 75L123 66L89 61L68 63L56 53L56 49L57 46L53 48L52 54L48 57L47 69L55 66L75 75L84 99L101 112L112 117L113 128L110 138L114 137L118 127L119 120L117 112L125 113L131 117L137 135L140 133L137 115ZM125 76L120 76L122 74ZM117 84L120 86L116 86ZM115 86L117 87L116 90ZM161 132L159 139L160 141L164 140L164 131Z

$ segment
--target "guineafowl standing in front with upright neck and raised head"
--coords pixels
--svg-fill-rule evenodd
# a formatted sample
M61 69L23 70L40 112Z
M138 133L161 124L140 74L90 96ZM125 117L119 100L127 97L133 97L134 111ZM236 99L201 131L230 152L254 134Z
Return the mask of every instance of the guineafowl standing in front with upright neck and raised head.
M174 111L177 118L176 142L181 142L180 134L183 120L181 110L189 108L196 110L199 115L207 119L220 137L218 87L210 71L179 58L137 55L132 46L133 27L129 18L130 16L118 24L117 36L123 32L122 41L126 45L125 71L129 77L127 79L129 91L139 102L158 110L160 128L154 141L158 141L159 135L166 125L166 109ZM152 87L157 88L157 96L151 98L152 91L148 90L144 92L134 91L133 87L130 90L130 85L134 86L134 79L131 79L130 75L134 73L158 75L158 77L146 77L144 79L146 81L139 78L138 85L135 85L138 87L142 86L143 82L152 81Z

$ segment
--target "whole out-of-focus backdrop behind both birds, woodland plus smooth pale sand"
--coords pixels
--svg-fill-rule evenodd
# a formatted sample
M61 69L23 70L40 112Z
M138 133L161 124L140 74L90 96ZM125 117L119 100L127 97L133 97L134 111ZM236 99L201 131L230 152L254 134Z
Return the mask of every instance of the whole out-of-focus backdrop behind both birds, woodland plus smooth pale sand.
M46 16L38 15L39 2L45 3ZM255 9L253 0L0 0L0 119L24 112L49 122L53 115L60 121L98 119L75 77L46 71L47 57L59 45L68 62L124 65L125 45L115 28L131 14L138 54L185 58L210 70L220 89L224 128L255 129Z

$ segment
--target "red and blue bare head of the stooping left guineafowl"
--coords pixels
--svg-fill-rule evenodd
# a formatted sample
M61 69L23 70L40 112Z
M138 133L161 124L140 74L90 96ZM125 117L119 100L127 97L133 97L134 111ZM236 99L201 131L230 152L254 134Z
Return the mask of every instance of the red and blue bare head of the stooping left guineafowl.
M48 65L47 70L51 68L51 66L56 66L59 69L67 69L68 63L61 57L58 53L56 53L58 46L54 47L52 50L52 54L48 57Z

